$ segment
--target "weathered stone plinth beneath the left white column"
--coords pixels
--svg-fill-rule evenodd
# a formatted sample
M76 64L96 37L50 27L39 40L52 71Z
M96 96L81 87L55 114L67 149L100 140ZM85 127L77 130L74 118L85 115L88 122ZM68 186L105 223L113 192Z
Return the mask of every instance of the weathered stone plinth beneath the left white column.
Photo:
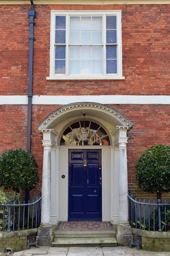
M40 246L51 246L54 239L54 230L51 223L41 223L36 239Z

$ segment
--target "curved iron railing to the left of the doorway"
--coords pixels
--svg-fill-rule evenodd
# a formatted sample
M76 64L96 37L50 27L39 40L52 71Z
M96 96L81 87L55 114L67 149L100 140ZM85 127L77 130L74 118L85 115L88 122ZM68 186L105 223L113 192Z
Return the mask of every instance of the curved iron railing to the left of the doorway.
M0 231L15 231L36 228L40 226L41 215L41 192L39 192L36 201L28 204L11 204L11 199L8 204L0 204Z

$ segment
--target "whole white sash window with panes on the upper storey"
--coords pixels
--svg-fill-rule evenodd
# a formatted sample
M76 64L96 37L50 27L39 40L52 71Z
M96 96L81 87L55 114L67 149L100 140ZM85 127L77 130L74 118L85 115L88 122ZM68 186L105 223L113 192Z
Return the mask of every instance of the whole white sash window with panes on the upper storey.
M51 14L47 79L124 79L120 11Z

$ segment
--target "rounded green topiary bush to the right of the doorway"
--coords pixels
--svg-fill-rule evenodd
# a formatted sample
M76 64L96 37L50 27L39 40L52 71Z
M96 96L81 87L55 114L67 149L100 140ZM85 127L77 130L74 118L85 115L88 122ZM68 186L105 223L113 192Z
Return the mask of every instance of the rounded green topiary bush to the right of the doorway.
M156 145L145 151L136 166L136 179L143 191L170 192L170 146Z

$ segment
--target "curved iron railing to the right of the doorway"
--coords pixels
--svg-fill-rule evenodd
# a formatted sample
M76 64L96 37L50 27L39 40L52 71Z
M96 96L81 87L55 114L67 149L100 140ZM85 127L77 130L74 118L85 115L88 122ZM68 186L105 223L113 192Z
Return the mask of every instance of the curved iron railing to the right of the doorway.
M170 231L170 204L160 200L148 203L146 200L137 201L129 189L129 220L131 227L150 231Z

